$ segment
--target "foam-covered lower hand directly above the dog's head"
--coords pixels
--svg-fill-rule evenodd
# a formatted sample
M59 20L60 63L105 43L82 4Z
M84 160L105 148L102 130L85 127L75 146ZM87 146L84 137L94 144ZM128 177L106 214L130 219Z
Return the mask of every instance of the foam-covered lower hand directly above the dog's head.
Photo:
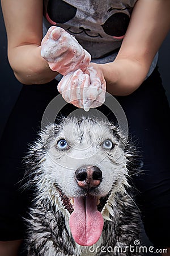
M106 82L99 65L91 63L86 72L78 69L63 76L58 84L58 91L65 101L84 108L101 106L105 101Z

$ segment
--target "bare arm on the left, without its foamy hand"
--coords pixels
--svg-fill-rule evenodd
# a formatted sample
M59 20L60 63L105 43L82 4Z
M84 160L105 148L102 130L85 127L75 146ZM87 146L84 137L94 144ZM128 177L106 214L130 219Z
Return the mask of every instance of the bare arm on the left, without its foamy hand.
M24 84L43 84L56 76L41 57L42 0L1 0L8 38L8 60Z

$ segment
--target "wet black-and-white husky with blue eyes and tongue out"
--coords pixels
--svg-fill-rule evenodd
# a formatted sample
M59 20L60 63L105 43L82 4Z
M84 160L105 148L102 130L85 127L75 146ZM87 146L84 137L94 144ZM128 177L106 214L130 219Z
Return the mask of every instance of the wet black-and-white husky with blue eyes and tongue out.
M28 255L141 255L139 211L128 179L133 152L108 121L65 118L28 155L35 200Z

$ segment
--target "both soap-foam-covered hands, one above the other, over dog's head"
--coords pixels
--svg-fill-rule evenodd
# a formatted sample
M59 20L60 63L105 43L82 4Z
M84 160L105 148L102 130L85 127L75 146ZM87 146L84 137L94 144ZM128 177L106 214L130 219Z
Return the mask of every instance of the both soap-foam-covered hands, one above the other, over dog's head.
M63 75L58 91L65 101L88 111L105 101L105 80L90 64L91 55L68 32L52 26L42 39L41 56ZM98 72L98 73L97 73Z

